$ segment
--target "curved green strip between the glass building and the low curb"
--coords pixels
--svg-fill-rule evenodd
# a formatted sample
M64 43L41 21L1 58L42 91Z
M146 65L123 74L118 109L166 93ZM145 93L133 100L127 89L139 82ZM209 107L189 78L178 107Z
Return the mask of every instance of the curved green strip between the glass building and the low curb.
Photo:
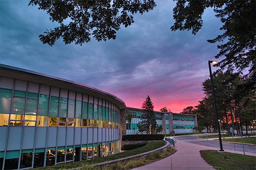
M114 154L112 156L99 157L99 158L91 159L91 160L88 160L88 161L77 161L77 162L67 163L67 164L57 164L57 165L52 165L52 166L48 166L48 167L38 167L38 168L34 168L34 169L36 169L36 170L71 169L71 168L74 168L74 167L80 167L83 164L96 164L96 163L100 163L100 162L105 162L105 161L111 161L111 160L114 160L114 159L124 158L124 157L127 157L127 156L137 155L139 153L144 153L144 152L148 152L150 150L157 149L157 148L162 147L164 145L165 145L165 142L163 142L163 141L148 142L143 147L139 147L139 148L133 149L133 150L127 150L125 152L117 153L117 154Z

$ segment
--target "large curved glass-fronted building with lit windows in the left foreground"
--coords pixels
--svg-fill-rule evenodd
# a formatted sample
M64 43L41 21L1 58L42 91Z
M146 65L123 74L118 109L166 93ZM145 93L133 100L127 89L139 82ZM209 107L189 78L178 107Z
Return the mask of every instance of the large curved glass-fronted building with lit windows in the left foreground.
M0 73L1 169L43 167L119 153L120 127L125 128L121 99L8 65L0 65Z

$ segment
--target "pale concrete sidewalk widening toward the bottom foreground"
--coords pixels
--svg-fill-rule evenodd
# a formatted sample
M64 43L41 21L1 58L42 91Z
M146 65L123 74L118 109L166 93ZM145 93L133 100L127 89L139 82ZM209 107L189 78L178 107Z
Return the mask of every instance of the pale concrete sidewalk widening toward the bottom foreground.
M218 150L215 147L192 144L183 140L177 140L175 147L177 152L172 156L142 167L134 168L133 170L215 170L204 161L199 153L200 150ZM241 151L225 151L243 154ZM249 153L248 155L256 156L253 153Z

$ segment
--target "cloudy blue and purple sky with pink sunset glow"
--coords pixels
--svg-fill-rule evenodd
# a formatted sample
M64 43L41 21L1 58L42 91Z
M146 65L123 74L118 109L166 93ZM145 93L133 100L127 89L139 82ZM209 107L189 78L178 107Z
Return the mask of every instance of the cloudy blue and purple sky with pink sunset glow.
M131 26L121 27L115 40L91 39L82 46L58 40L50 47L39 34L58 26L45 11L27 0L0 0L0 63L60 77L98 88L141 108L149 95L154 110L166 106L180 113L204 97L208 60L218 53L210 44L221 34L212 9L203 15L198 34L171 31L172 0L157 0L154 10L135 14ZM215 71L216 68L212 68Z

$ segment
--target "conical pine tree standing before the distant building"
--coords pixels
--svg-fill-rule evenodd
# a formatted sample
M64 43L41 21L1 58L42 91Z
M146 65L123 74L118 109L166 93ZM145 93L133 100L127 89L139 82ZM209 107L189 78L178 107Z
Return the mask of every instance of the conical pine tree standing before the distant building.
M150 97L146 97L142 104L143 114L141 115L141 121L138 123L140 133L149 133L149 126L151 125L151 132L157 129L157 120L154 115L154 105Z

